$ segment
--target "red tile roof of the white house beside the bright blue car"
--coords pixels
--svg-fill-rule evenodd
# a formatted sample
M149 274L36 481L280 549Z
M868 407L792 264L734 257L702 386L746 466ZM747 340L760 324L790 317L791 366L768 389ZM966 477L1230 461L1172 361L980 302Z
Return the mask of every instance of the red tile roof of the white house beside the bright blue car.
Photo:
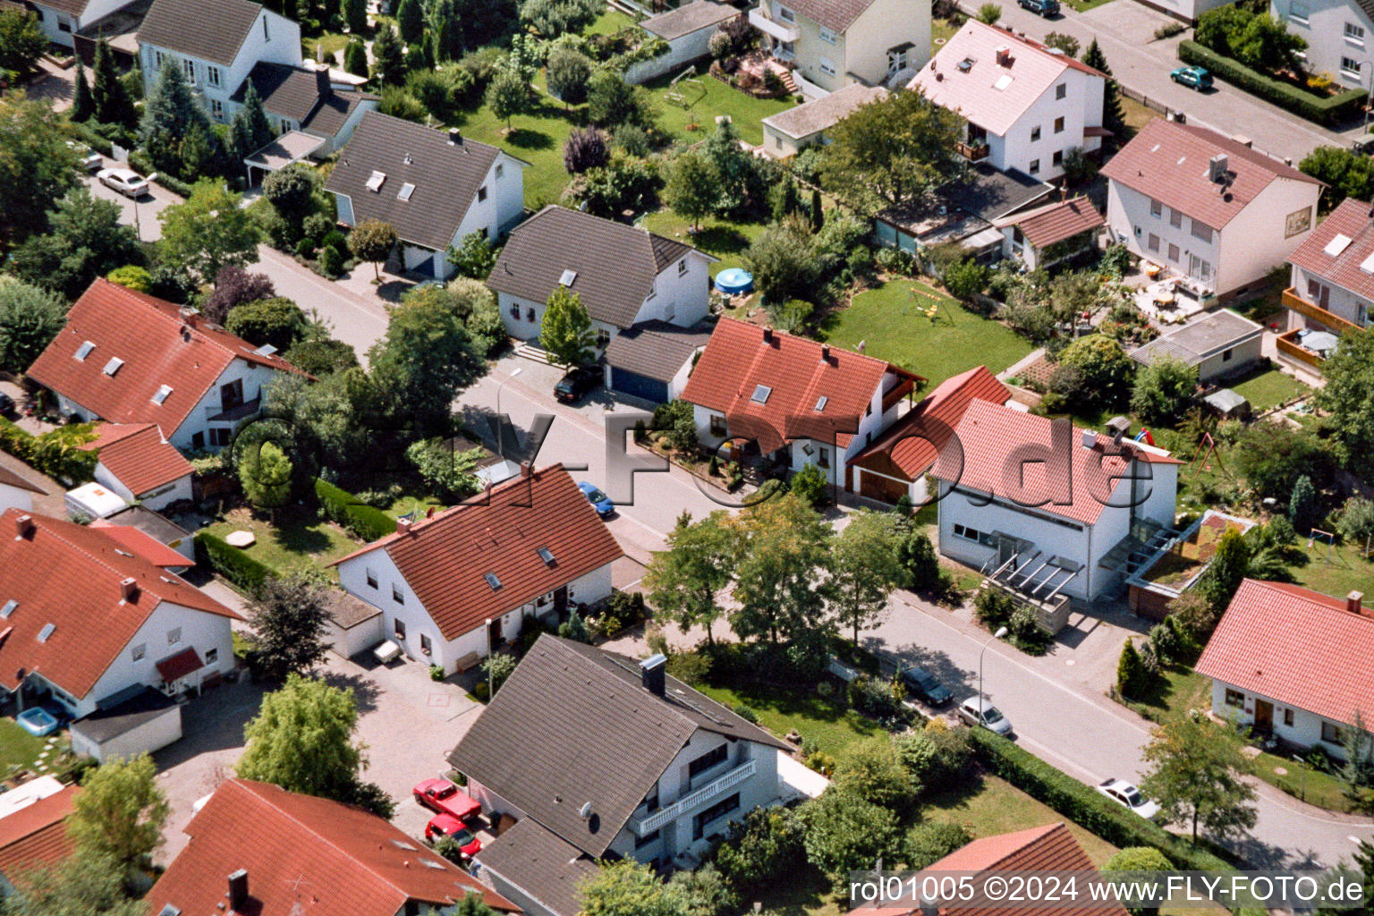
M378 549L449 640L624 556L562 464L511 478L334 564Z

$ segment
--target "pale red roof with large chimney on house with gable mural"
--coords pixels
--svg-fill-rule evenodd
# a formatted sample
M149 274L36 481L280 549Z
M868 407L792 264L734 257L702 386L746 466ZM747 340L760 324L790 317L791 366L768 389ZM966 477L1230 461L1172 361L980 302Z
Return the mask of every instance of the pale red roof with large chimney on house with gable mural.
M1208 179L1208 161L1220 152L1227 155L1231 173L1226 187ZM1102 174L1213 229L1230 222L1275 179L1325 187L1293 166L1215 130L1164 118L1146 124L1102 166Z

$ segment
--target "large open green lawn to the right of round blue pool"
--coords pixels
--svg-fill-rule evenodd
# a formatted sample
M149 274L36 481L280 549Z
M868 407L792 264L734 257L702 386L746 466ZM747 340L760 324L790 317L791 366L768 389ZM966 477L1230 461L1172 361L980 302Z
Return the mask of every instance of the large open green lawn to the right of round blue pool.
M933 319L926 317L927 308L936 309ZM864 353L923 375L930 386L976 365L1000 372L1032 349L1004 324L905 279L856 295L848 309L826 321L824 335L851 350L864 341Z

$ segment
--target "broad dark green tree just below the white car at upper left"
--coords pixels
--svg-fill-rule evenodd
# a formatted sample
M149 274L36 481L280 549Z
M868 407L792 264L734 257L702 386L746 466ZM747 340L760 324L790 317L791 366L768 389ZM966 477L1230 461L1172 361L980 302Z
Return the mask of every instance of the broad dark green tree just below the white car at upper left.
M121 222L120 205L74 188L48 213L48 232L33 235L11 255L15 276L69 299L91 282L126 264L142 264L133 227Z

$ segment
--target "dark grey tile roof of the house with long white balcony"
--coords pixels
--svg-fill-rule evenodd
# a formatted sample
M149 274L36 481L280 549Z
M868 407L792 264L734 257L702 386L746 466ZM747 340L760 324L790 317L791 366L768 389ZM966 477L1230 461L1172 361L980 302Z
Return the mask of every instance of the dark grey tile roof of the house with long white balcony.
M448 761L600 857L698 729L786 748L677 678L666 681L655 696L635 659L540 636Z

